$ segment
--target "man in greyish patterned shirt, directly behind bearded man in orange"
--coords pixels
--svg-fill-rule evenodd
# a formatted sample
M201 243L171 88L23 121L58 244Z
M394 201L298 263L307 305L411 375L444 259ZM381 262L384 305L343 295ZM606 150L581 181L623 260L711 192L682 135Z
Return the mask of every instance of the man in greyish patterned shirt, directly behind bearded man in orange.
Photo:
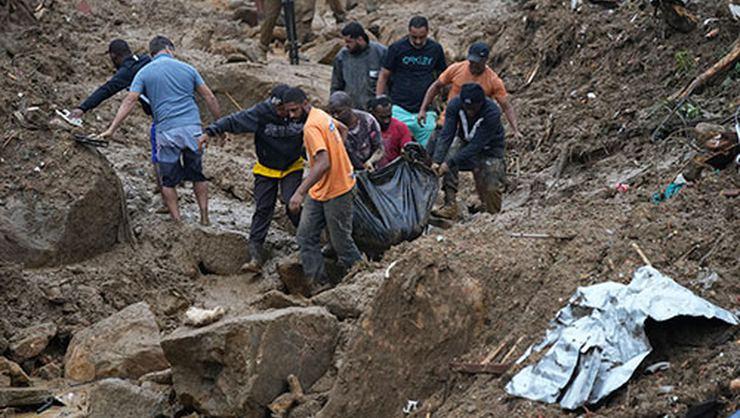
M343 91L332 93L329 113L348 129L344 147L352 168L373 171L383 158L383 140L380 125L373 115L352 108L352 99Z

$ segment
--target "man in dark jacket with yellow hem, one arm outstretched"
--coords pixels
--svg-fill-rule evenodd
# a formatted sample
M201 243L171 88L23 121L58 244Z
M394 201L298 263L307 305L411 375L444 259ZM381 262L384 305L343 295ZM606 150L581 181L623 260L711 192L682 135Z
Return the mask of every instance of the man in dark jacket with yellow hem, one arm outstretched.
M280 197L286 205L303 179L303 123L289 120L283 105L283 94L289 89L280 84L272 89L270 98L249 109L225 116L206 128L199 144L223 133L254 133L257 163L254 172L256 209L249 232L252 261L245 269L259 271L265 262L263 249L267 230ZM288 218L298 226L300 212L287 211Z

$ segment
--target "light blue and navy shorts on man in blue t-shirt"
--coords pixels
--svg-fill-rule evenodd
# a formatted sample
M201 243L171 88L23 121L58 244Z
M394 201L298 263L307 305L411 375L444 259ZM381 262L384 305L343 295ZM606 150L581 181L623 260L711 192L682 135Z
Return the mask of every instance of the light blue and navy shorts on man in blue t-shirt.
M177 187L183 181L207 181L203 175L202 154L197 150L199 126L159 132L157 159L163 187Z

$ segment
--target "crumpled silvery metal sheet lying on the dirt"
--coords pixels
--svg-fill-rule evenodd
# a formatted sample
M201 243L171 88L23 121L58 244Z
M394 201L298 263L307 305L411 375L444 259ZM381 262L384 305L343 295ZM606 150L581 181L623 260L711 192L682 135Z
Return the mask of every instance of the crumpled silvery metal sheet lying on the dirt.
M596 403L624 385L652 351L645 320L660 322L683 315L738 324L729 311L649 266L635 271L629 285L606 282L578 288L551 322L545 338L517 364L533 352L548 348L547 352L517 373L506 392L559 403L564 409Z

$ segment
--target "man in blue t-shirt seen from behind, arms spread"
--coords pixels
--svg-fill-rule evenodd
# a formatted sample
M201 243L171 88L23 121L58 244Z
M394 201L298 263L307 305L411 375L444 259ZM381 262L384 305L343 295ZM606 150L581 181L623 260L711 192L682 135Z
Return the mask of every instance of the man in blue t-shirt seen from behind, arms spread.
M140 95L149 98L157 130L157 157L162 176L162 198L172 219L180 220L175 187L192 181L200 208L200 222L208 225L208 185L203 175L198 137L202 133L200 113L195 103L197 91L215 119L221 116L216 97L191 65L173 58L175 46L164 36L149 42L152 62L142 68L131 83L110 127L100 135L113 135L134 108Z

